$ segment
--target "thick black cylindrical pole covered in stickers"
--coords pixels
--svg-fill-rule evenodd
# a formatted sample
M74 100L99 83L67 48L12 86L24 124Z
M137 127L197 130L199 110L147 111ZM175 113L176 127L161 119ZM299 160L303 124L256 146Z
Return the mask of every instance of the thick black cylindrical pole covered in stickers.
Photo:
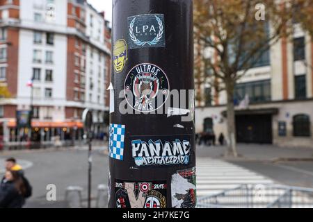
M113 0L109 207L195 207L192 0Z

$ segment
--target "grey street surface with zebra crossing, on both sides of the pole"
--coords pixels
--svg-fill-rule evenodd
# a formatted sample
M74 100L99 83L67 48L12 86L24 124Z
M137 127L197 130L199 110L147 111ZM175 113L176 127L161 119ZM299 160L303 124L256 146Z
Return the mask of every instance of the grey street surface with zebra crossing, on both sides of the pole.
M267 155L253 157L251 153L264 148ZM277 150L278 149L278 150ZM216 194L223 189L230 189L241 184L280 184L299 187L313 187L312 161L273 161L278 160L278 151L283 157L294 155L296 149L275 148L274 146L257 146L239 144L241 157L221 157L225 148L220 146L200 146L197 150L197 189L198 196ZM250 150L250 151L251 151ZM259 151L261 153L262 150ZM313 153L311 150L298 149L294 157ZM87 198L88 151L80 149L11 151L0 154L0 173L3 174L3 160L16 157L25 168L26 177L33 185L33 196L27 200L25 207L67 207L65 190L68 186L83 188L82 198ZM262 158L261 158L262 157ZM300 159L299 159L300 160ZM97 186L107 185L108 157L99 147L93 151L93 198L97 196ZM56 201L47 201L47 185L56 185Z

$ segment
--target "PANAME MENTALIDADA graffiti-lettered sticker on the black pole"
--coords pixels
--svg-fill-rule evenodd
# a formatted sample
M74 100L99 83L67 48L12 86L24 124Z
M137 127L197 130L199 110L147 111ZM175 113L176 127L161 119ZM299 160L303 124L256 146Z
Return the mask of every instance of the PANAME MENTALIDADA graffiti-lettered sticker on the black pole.
M191 156L191 136L133 136L131 161L136 167L169 166L189 164Z

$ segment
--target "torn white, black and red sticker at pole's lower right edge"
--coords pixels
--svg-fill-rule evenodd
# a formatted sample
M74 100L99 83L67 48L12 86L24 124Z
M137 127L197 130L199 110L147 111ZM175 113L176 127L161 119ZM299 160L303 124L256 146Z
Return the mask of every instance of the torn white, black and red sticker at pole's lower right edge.
M171 182L172 207L194 208L196 205L195 167L177 171Z

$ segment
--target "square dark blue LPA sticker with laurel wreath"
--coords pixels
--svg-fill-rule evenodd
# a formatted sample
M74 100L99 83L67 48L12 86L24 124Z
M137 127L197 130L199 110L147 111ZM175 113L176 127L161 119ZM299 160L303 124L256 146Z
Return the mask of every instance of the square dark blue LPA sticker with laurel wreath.
M146 14L128 17L129 49L165 47L163 14Z

